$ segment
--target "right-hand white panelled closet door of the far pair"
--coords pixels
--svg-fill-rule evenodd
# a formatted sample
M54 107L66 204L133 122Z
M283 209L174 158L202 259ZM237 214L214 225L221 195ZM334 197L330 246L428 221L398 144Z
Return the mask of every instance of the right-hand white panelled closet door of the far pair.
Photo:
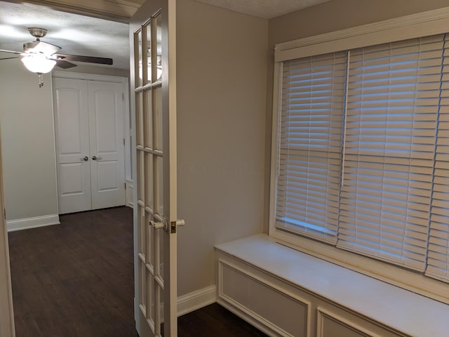
M125 204L123 85L88 81L92 209Z

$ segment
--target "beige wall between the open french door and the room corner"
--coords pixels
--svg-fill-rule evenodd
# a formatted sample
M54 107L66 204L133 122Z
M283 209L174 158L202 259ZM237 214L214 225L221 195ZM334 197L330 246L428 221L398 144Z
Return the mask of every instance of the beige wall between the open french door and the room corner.
M215 244L262 231L267 20L177 1L178 296Z

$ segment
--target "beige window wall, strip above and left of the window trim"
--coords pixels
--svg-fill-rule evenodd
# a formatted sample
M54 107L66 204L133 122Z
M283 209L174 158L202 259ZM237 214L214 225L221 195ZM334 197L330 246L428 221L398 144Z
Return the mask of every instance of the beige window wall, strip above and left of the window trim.
M267 67L266 157L271 155L274 45L340 29L398 18L449 6L448 0L330 0L269 20ZM449 30L449 27L448 27ZM265 180L269 191L269 178ZM268 224L269 193L265 193L265 226ZM267 227L264 227L267 231Z

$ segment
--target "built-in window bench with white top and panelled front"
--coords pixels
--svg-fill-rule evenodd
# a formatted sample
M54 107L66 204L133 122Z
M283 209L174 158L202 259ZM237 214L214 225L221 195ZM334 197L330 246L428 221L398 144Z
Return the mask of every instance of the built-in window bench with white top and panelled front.
M217 302L269 336L449 336L449 305L296 251L267 235L215 250Z

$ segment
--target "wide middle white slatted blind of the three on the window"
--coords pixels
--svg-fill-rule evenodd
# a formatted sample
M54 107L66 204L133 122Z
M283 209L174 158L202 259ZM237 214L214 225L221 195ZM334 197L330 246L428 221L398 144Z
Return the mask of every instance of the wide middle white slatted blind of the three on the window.
M351 51L338 245L424 271L443 36Z

